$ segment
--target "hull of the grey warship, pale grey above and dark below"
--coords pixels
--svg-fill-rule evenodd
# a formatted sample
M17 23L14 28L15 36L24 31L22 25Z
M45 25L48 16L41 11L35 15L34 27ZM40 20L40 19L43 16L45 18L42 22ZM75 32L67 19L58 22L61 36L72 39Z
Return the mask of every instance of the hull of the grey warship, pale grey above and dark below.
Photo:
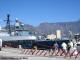
M35 36L0 36L2 39L2 46L18 48L19 45L22 48L32 48L32 44L35 42Z

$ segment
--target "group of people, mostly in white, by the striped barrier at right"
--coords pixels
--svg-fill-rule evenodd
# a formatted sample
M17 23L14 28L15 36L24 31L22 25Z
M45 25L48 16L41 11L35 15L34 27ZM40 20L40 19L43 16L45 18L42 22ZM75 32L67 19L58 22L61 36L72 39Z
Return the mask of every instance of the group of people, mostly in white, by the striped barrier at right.
M74 55L77 54L77 48L76 48L77 44L73 43L72 40L70 40L68 43L63 42L61 44L61 46L62 46L62 50L65 53L67 53L67 51L69 51L69 54L70 54L70 53L72 53L75 50ZM58 48L59 48L58 42L55 42L54 47L55 47L55 50L58 51Z

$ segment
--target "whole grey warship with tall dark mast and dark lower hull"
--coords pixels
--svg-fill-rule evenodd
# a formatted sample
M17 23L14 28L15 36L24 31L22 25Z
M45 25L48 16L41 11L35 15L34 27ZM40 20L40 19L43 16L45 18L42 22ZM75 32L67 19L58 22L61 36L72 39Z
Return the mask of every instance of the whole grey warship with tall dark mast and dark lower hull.
M23 48L32 48L32 44L37 37L35 32L30 29L24 28L24 23L19 22L15 19L15 24L11 25L10 23L10 14L7 15L6 27L0 27L0 39L3 41L3 47L5 45L9 47L17 48L18 45L22 45Z

